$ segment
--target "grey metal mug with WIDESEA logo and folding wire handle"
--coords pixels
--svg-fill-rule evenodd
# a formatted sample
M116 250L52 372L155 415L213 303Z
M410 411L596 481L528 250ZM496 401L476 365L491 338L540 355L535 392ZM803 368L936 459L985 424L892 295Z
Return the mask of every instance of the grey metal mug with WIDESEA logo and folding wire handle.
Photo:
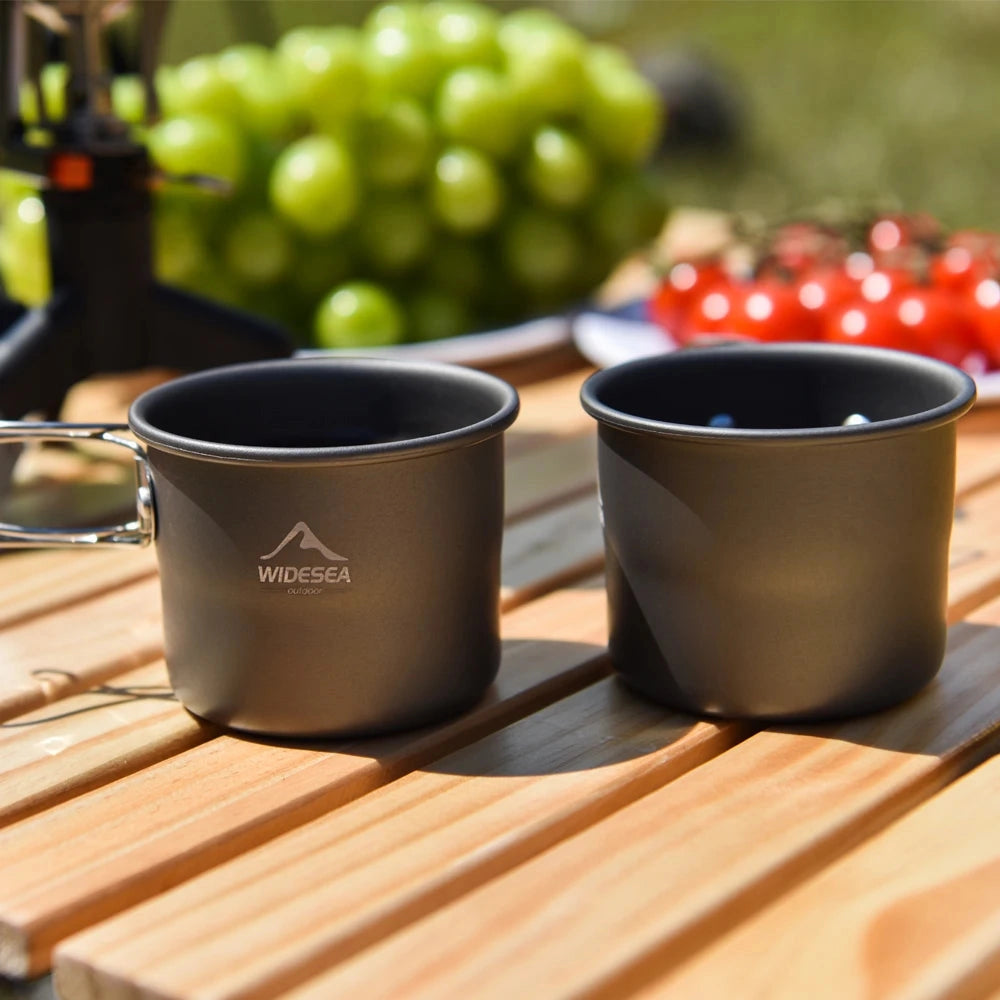
M272 736L421 726L471 706L499 667L503 432L517 410L507 383L449 365L187 375L141 395L127 427L0 425L0 440L117 442L138 476L130 524L0 525L0 543L155 537L170 680L195 715Z

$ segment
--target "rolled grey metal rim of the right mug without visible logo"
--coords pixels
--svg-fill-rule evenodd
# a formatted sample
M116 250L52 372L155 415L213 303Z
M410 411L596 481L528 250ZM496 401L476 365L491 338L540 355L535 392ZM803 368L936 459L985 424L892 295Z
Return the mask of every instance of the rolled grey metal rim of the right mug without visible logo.
M868 358L883 365L891 365L900 371L920 372L951 383L952 397L947 402L928 410L893 417L889 420L875 420L866 424L823 427L709 427L696 424L682 424L650 417L636 416L618 409L600 399L602 390L627 379L637 372L648 372L657 368L676 367L698 363L705 358L725 360L737 352L748 353L756 358L797 360L802 358ZM583 409L601 425L635 433L652 434L657 437L698 440L705 443L735 443L739 441L760 444L785 444L803 440L828 443L842 443L854 438L880 438L902 434L907 431L924 430L957 420L971 409L976 400L976 383L966 372L944 361L921 354L912 354L882 347L862 347L852 344L726 344L711 347L691 347L669 354L657 354L636 358L612 365L591 375L580 389L580 403Z

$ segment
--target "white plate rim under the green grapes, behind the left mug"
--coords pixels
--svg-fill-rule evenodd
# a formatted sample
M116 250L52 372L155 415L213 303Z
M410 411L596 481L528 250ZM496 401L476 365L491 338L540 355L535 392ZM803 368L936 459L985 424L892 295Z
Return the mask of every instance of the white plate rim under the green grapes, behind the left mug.
M391 357L447 361L458 365L495 365L542 354L570 343L573 327L566 316L543 316L501 330L469 333L445 340L427 340L391 347L320 350L305 348L297 357Z

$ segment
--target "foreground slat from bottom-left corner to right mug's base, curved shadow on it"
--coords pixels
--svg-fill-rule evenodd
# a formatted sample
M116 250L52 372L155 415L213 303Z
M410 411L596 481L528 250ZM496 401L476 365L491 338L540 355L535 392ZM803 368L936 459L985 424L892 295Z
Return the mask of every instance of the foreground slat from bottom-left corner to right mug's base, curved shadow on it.
M274 996L745 733L607 679L75 937L60 992Z

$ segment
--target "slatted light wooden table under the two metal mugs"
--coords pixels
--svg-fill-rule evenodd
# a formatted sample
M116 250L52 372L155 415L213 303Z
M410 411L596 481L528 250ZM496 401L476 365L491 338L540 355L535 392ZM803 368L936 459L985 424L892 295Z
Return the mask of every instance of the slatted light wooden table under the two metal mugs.
M938 680L760 729L609 675L586 372L518 374L503 666L447 725L224 733L170 693L152 552L0 560L5 975L54 965L67 1000L1000 996L1000 411L961 426Z

